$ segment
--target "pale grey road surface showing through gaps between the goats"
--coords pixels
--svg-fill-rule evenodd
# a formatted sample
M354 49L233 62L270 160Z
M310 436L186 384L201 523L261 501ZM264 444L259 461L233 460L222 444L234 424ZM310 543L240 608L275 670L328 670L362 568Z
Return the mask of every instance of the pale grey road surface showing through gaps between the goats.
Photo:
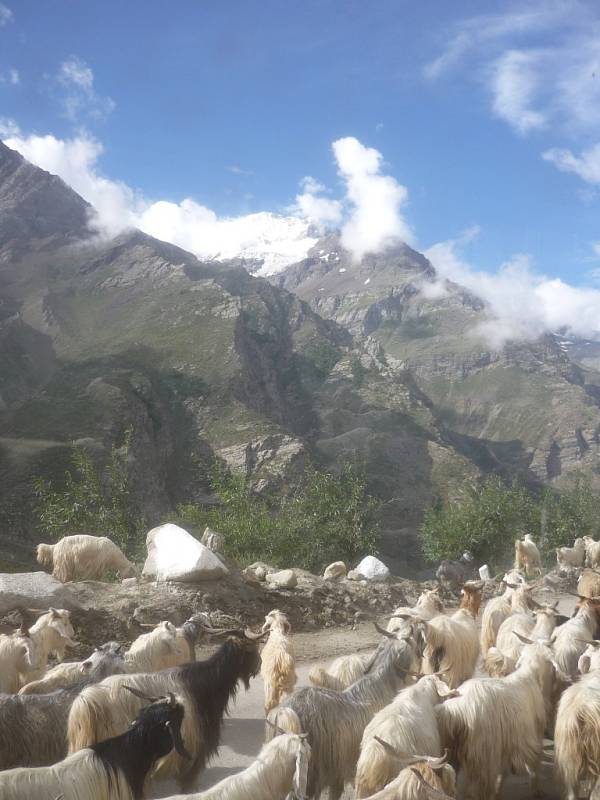
M561 598L561 612L570 614L574 605L573 598ZM344 653L357 653L372 650L378 643L379 636L371 624L362 624L355 630L326 629L317 633L300 633L294 637L298 658L298 686L308 685L308 673L315 662L326 662ZM211 651L199 653L206 658ZM252 762L264 740L263 687L258 678L252 681L248 692L242 691L226 719L223 729L222 746L218 758L202 773L198 789L206 789L217 781L238 772ZM559 800L560 793L555 786L552 774L552 750L547 742L546 758L543 770L543 800ZM155 797L175 794L176 787L157 787ZM533 798L529 782L524 778L510 777L505 781L502 800L529 800ZM347 800L354 797L351 791L344 796ZM459 794L460 797L460 794Z

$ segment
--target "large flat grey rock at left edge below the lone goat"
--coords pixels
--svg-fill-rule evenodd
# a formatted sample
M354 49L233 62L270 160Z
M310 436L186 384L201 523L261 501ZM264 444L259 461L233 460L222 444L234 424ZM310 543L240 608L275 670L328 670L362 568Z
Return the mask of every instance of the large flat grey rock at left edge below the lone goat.
M0 574L0 614L20 608L51 607L69 611L82 608L71 590L47 572Z

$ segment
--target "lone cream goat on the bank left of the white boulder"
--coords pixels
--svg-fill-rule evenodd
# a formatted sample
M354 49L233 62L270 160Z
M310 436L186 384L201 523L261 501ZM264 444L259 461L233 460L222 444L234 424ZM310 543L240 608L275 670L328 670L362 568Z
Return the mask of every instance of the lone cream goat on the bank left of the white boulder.
M57 580L101 580L107 572L122 578L135 574L135 567L106 536L65 536L56 544L39 544L38 563L52 569Z

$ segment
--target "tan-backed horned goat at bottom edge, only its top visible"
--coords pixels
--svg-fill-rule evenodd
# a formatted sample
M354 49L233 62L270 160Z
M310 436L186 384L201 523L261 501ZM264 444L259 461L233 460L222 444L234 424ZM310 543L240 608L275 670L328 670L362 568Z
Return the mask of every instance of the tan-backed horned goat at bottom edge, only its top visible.
M456 773L446 758L400 757L383 739L381 746L398 760L400 772L368 800L452 800L456 795Z

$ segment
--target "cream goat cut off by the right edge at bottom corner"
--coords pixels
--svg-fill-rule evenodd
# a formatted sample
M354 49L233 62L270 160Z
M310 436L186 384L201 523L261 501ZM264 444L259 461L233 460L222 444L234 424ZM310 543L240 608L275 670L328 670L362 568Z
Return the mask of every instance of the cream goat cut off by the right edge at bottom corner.
M582 781L591 781L597 787L600 779L599 645L594 642L581 656L583 677L563 693L558 704L554 760L567 800L581 796L578 789Z

